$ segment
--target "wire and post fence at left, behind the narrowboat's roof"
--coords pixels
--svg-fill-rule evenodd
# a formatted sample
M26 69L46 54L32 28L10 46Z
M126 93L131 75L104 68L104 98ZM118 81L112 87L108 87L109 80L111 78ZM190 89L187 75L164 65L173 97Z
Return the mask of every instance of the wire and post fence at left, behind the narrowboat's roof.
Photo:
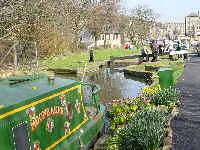
M1 40L0 69L38 72L36 42Z

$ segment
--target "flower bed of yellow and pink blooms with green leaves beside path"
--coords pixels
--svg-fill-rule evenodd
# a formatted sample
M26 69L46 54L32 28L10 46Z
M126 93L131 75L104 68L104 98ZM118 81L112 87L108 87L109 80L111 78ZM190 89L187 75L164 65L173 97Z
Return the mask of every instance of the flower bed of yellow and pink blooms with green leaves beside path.
M171 112L180 94L159 85L144 88L133 99L114 100L106 113L110 119L107 150L157 150L166 147ZM169 142L168 142L169 143Z

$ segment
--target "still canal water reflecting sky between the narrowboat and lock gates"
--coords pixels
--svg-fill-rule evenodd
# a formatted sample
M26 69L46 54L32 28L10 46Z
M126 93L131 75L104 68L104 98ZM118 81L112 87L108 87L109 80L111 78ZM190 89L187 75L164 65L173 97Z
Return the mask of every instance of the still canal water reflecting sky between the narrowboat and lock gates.
M65 78L82 80L81 76L65 75ZM142 79L124 74L123 71L110 68L101 69L90 76L85 76L83 81L100 85L100 103L107 104L115 99L135 97L141 93L142 88L148 84Z

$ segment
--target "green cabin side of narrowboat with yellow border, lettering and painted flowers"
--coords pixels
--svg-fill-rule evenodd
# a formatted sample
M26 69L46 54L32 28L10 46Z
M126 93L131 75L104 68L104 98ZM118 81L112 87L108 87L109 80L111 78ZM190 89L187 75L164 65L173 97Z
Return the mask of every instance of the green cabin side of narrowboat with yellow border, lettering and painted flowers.
M1 148L15 149L12 130L21 123L28 124L31 149L49 150L57 149L88 121L80 84L55 90L32 101L0 115L0 133L4 135L0 136Z

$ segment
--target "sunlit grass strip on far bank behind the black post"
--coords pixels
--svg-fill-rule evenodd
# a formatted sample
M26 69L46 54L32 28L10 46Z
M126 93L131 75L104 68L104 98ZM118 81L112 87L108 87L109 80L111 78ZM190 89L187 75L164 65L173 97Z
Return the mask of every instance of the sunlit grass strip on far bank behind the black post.
M96 68L100 63L110 59L110 56L123 57L138 53L139 50L125 50L123 48L98 49L94 50L94 63L88 63L89 68ZM89 61L89 52L69 53L65 56L54 56L48 59L41 59L41 67L68 67L71 69L83 68Z

